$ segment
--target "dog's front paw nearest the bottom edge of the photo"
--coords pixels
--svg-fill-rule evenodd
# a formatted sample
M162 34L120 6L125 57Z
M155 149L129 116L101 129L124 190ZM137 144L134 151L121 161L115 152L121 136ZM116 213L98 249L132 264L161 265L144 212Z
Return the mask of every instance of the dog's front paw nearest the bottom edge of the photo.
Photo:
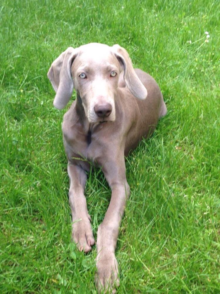
M101 252L96 258L97 275L95 277L96 287L101 293L116 293L119 287L119 267L114 253Z

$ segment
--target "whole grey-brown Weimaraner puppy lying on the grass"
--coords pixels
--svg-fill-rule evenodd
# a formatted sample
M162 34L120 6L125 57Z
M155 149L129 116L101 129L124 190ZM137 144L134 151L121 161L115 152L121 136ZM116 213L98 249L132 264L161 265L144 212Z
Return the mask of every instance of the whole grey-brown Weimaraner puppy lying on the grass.
M130 187L124 156L155 129L167 113L155 80L140 69L119 45L90 43L69 47L51 65L48 78L56 92L53 105L62 109L76 89L77 98L65 113L62 132L70 178L72 237L88 252L95 240L84 189L90 163L101 167L111 188L111 201L97 232L99 291L119 286L115 248Z

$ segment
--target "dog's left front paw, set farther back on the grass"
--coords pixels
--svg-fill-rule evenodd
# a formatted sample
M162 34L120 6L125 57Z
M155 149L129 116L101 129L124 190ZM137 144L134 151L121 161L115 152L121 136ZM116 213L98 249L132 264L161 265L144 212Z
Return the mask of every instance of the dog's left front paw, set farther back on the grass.
M72 239L77 244L80 251L85 253L92 249L95 239L92 233L90 217L77 219L72 223Z

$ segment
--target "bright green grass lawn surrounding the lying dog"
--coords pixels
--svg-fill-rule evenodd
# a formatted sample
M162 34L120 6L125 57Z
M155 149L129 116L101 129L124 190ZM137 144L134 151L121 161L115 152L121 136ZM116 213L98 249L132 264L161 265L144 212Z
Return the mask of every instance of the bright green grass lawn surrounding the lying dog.
M126 160L118 292L219 293L219 1L3 0L0 11L0 293L96 293L95 248L71 243L67 108L53 108L46 76L89 42L125 47L168 108ZM96 238L110 199L99 170L86 196Z

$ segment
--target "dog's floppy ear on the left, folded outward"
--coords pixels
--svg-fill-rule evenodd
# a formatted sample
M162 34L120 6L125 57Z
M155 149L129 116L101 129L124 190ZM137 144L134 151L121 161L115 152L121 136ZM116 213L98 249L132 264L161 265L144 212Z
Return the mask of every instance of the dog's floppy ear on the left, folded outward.
M74 85L71 76L71 65L77 52L77 49L67 48L52 63L48 71L47 76L56 92L53 106L57 109L64 108L72 96Z

